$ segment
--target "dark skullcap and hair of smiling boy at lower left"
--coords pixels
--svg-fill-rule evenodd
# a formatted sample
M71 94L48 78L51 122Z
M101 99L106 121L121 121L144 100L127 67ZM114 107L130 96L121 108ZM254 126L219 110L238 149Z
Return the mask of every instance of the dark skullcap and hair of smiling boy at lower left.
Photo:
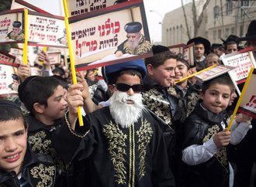
M19 105L11 100L0 99L0 121L12 121L18 119L21 119L24 127L27 128L27 124Z

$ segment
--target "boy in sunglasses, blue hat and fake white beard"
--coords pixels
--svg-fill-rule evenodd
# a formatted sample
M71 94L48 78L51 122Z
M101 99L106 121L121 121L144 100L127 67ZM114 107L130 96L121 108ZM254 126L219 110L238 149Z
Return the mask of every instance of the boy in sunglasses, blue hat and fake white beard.
M162 131L142 104L145 74L142 60L105 67L110 105L86 116L91 130L80 159L86 171L78 173L74 186L175 186ZM72 85L68 102L82 105L82 89Z

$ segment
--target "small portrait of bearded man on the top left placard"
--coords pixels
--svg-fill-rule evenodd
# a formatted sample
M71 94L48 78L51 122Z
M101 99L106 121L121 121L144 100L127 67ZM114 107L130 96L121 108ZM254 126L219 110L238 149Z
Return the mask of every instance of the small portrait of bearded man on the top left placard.
M13 39L18 42L24 41L24 33L22 32L22 29L20 29L20 26L22 25L19 21L12 22L12 31L7 34L5 37L6 40Z

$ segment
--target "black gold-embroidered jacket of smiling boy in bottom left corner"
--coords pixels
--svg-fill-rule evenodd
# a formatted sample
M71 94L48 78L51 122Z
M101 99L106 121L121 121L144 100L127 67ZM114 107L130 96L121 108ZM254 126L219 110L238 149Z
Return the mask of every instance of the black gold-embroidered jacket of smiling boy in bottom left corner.
M57 186L54 185L58 175L54 162L45 155L33 154L29 146L22 163L21 175L30 186ZM16 172L5 172L0 169L0 186L19 187Z

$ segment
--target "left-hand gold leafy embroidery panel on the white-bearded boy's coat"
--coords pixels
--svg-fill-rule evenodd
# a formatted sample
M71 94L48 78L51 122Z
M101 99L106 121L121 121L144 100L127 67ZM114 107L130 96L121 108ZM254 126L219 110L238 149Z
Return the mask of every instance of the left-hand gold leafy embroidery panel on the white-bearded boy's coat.
M109 140L109 154L112 157L112 165L116 171L115 177L118 184L126 184L126 167L124 165L126 155L127 135L119 129L118 124L105 124L102 129L103 134Z

